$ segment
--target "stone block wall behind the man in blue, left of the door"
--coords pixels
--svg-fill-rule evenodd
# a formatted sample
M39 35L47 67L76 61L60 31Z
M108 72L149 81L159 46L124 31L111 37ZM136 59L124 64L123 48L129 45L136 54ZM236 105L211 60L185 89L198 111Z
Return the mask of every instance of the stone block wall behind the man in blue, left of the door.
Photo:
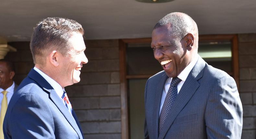
M85 40L89 62L81 81L65 87L87 139L121 139L121 99L118 40ZM29 42L10 42L17 52L6 59L14 63L19 84L34 67Z

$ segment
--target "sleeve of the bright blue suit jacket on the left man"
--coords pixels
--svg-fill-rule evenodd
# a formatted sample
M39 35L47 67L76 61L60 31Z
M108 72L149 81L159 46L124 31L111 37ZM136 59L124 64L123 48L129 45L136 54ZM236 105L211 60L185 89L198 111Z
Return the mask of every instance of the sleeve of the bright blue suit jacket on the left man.
M7 139L55 138L52 113L47 103L36 94L22 95L7 116L7 122L4 122Z

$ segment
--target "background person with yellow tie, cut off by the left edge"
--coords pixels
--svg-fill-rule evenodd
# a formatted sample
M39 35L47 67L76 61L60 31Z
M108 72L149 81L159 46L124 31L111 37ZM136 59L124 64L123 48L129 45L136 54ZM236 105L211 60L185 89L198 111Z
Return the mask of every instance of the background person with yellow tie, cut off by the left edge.
M17 85L13 81L15 75L13 63L8 60L0 59L0 139L4 138L3 122L7 109L7 105L17 89Z

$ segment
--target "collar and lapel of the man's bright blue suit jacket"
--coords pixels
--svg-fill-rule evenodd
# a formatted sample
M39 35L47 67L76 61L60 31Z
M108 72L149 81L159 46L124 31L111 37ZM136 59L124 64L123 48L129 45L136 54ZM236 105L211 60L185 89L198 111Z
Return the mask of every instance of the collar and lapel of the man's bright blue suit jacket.
M66 120L70 123L70 125L74 128L76 133L78 134L79 138L83 138L83 135L78 128L75 119L73 118L72 114L67 110L67 107L63 103L62 99L58 96L56 91L52 88L52 86L34 69L30 70L28 74L29 78L35 80L38 85L41 86L43 90L49 92L49 97L51 98L52 102L57 106L60 112L64 115Z

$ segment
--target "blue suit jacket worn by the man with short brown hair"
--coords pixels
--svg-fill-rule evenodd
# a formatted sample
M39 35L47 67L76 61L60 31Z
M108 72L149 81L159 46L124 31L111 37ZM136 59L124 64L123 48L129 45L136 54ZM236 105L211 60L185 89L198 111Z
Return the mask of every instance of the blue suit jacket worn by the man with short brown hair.
M71 114L52 86L31 70L13 94L4 119L6 139L82 139L75 112Z

